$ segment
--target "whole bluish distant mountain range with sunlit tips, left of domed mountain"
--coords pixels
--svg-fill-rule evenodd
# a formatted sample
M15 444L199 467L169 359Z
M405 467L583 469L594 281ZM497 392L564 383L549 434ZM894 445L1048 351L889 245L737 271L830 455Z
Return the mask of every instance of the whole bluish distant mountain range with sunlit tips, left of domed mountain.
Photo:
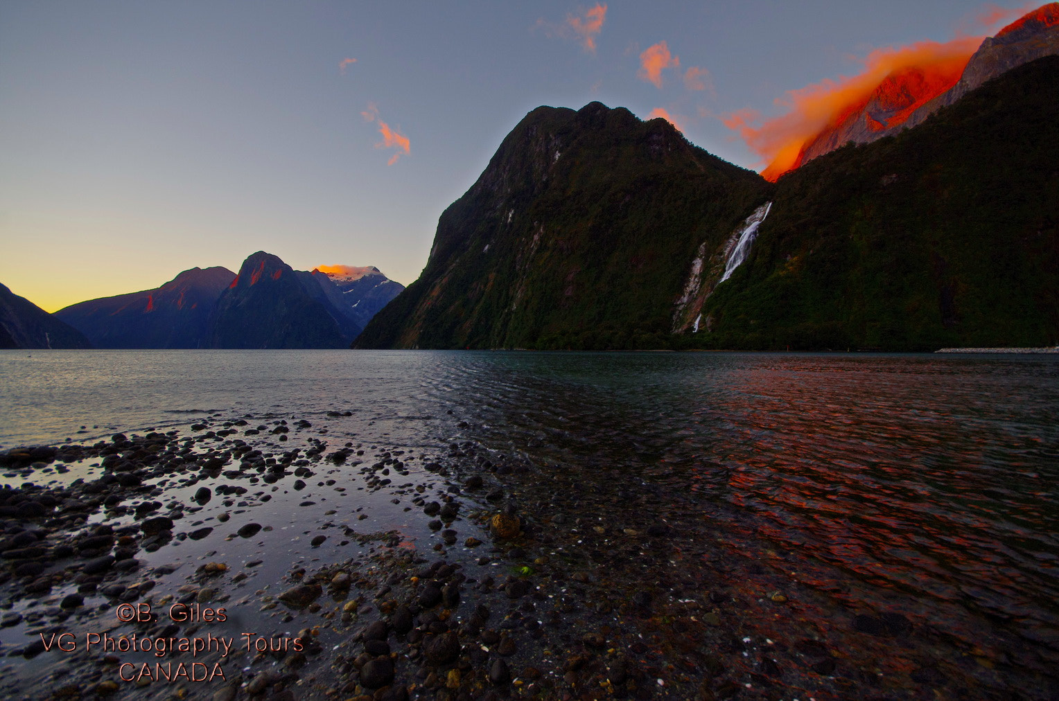
M54 317L100 348L341 348L405 289L376 268L365 271L347 280L293 270L259 251L238 274L193 268L159 288L80 302Z

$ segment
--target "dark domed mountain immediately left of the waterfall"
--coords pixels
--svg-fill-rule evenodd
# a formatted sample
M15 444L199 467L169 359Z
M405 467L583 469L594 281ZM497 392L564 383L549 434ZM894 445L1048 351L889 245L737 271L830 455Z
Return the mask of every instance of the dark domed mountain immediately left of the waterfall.
M416 282L356 347L657 345L684 263L769 183L662 119L539 107L439 217Z

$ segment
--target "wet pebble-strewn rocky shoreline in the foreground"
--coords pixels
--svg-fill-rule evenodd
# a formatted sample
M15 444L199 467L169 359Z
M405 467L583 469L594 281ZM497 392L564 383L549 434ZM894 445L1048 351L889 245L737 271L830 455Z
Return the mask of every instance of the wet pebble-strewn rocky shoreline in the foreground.
M35 483L0 488L0 695L933 699L993 698L975 694L1017 679L1043 699L1059 688L1016 669L1015 651L971 649L914 611L836 609L833 586L795 576L782 553L740 549L666 488L664 471L589 484L474 441L425 450L328 436L326 423L347 417L212 416L0 454L8 484ZM150 613L119 621L122 605ZM74 649L56 649L66 633ZM233 645L158 655L90 646L91 635ZM181 662L183 677L156 666Z

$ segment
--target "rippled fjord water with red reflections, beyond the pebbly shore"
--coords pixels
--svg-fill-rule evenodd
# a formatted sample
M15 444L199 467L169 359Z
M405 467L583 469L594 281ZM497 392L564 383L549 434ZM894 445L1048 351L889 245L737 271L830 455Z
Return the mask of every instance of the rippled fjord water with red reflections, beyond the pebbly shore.
M1059 651L1056 356L22 350L0 378L2 449L351 411L358 439L651 489L847 619Z

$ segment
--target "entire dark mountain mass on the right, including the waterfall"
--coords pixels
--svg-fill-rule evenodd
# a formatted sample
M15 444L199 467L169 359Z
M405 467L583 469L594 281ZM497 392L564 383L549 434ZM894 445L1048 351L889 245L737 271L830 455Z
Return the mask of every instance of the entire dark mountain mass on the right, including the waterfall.
M355 347L1055 345L1056 8L984 42L932 113L891 101L918 126L775 183L661 119L538 108ZM857 119L885 122L892 77Z

